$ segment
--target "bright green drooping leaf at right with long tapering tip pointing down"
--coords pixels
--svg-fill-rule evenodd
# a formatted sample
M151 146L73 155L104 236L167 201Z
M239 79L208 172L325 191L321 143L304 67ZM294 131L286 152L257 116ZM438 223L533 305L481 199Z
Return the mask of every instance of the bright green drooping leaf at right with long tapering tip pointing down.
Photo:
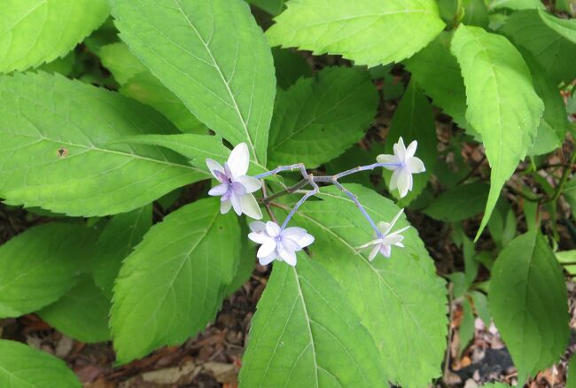
M505 37L462 25L456 29L451 50L466 86L466 119L482 136L492 167L478 238L504 182L532 147L544 105L524 59Z

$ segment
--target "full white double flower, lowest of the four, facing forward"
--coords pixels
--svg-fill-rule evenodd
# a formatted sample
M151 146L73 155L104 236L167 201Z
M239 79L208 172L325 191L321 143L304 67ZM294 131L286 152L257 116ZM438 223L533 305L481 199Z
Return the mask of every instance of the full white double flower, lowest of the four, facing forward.
M277 259L285 261L292 267L296 265L296 252L300 252L314 243L314 236L302 228L281 229L276 222L253 221L250 223L252 233L248 235L254 243L261 244L256 256L262 266Z

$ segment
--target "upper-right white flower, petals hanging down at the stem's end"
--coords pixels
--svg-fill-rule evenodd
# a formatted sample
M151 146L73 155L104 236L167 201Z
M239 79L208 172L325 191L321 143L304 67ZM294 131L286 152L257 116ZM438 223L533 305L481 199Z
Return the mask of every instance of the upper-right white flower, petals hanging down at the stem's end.
M406 197L409 190L412 190L412 174L424 173L424 163L414 156L418 143L413 141L408 148L404 146L404 140L400 138L398 143L393 145L393 155L378 155L378 163L390 163L393 166L384 166L392 170L390 180L390 190L398 189L400 197Z

